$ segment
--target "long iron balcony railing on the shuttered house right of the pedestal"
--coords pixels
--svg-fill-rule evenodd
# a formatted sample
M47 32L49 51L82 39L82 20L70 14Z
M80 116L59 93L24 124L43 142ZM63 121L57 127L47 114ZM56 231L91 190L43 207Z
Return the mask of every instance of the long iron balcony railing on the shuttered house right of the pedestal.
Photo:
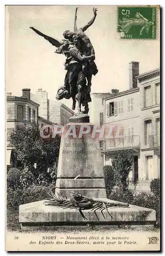
M140 147L140 136L126 136L122 138L112 138L100 141L101 150L116 150L124 148Z

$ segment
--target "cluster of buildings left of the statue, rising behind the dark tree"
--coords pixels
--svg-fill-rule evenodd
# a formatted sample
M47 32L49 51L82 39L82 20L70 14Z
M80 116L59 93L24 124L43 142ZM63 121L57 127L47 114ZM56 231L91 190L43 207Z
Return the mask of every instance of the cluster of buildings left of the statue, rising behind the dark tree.
M47 92L39 89L35 95L31 89L22 89L22 96L12 96L7 93L6 101L6 165L18 166L14 148L10 145L10 134L19 127L30 127L33 123L41 126L48 125L46 130L50 134L49 125L69 123L74 114L65 104L47 98Z

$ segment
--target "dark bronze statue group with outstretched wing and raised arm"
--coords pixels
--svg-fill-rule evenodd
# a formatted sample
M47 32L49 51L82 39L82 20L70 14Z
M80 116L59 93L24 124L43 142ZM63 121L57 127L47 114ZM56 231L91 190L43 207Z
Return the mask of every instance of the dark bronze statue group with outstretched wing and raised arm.
M61 100L63 98L72 98L72 110L75 110L77 101L77 113L76 114L88 114L88 103L91 101L91 80L92 75L96 75L98 70L95 60L95 51L91 44L89 37L84 33L95 21L97 16L97 9L93 8L94 16L90 22L84 27L77 29L76 18L77 8L75 11L74 19L74 31L66 30L63 33L65 39L57 40L50 36L47 36L37 29L31 27L37 34L44 37L53 46L57 47L55 51L58 54L65 54L65 69L67 73L65 75L64 86L58 89L56 99ZM84 106L84 111L81 111L81 105Z

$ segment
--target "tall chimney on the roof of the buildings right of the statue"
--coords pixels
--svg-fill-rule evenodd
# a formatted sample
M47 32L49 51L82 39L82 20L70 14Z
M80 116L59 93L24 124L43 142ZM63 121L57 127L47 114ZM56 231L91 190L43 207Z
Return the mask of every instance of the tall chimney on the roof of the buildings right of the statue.
M129 89L137 87L136 76L139 75L139 62L132 61L129 62Z

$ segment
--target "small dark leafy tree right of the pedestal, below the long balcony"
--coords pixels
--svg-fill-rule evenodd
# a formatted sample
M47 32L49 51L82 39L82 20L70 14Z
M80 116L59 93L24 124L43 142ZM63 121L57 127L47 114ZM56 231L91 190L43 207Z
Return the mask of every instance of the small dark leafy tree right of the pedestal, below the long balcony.
M133 157L129 151L113 152L112 167L116 185L123 190L127 188L127 178L130 170L132 170Z

